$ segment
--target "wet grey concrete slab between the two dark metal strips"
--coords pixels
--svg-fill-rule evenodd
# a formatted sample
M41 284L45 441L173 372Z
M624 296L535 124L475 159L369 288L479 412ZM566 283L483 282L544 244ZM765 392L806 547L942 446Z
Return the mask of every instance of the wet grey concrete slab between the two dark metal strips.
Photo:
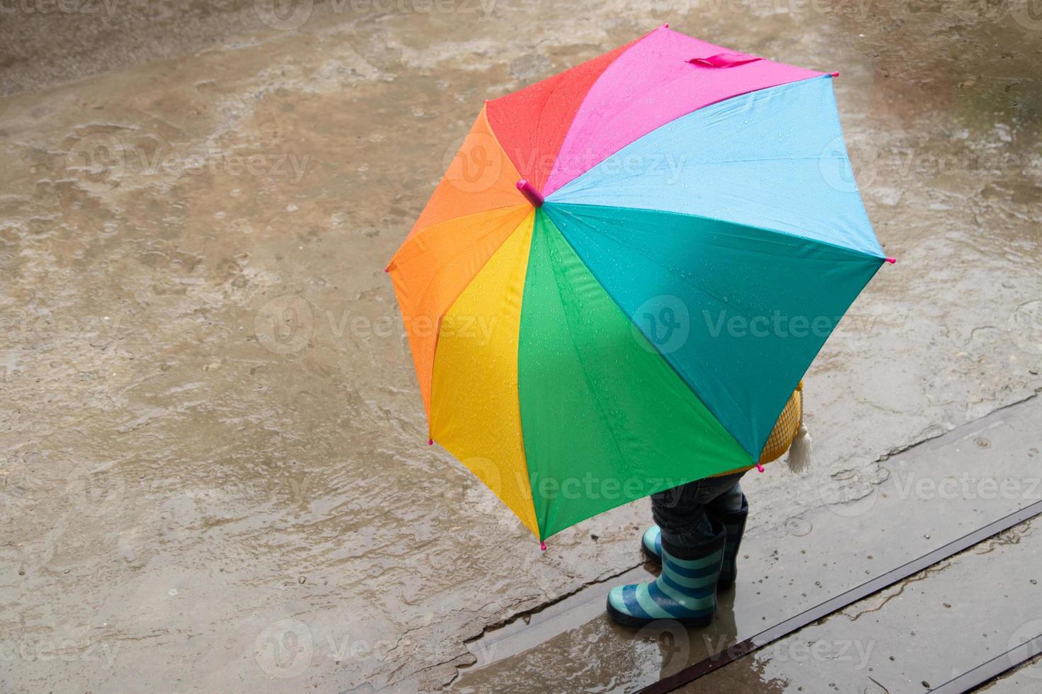
M750 673L752 691L928 691L1042 634L1024 614L1040 559L1038 528L1018 525L677 691L742 691ZM1042 668L1020 676L1042 689Z

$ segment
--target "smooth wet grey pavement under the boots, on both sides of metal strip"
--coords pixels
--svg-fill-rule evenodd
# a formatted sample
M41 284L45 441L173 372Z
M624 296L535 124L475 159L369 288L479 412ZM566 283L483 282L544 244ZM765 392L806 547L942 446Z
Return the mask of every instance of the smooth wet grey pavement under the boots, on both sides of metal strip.
M634 631L603 617L611 586L653 576L658 567L649 563L584 589L532 615L528 624L486 634L471 644L477 664L462 668L452 689L541 692L569 682L579 685L569 691L590 690L610 671L617 685L609 689L636 691L719 659L736 643L1042 500L1040 431L1042 403L1033 397L882 461L884 479L866 496L792 516L778 528L750 529L736 588L721 594L708 628L662 621ZM744 486L751 507L760 490ZM752 685L761 680L770 685L765 691L819 692L830 684L841 685L839 691L909 691L908 670L890 665L898 657L900 667L925 673L915 683L940 685L1019 645L1011 644L1015 636L1042 634L1042 619L1034 614L1042 605L1042 564L1031 542L1021 546L1021 538L1038 534L1031 526L1019 525L854 602L697 680L690 691L760 691ZM1002 562L989 560L985 568L964 563L1002 547ZM966 568L948 572L952 566ZM945 577L934 580L941 573ZM948 573L957 575L950 585ZM923 607L905 599L913 585L924 596ZM931 606L944 605L950 612L932 612ZM873 649L887 660L872 660Z

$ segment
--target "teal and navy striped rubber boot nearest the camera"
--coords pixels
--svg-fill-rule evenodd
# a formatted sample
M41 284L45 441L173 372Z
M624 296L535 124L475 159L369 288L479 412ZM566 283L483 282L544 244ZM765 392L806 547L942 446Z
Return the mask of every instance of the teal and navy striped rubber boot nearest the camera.
M714 523L717 526L717 523ZM607 614L626 626L670 619L705 626L716 614L716 584L723 564L725 533L696 548L662 545L662 573L647 583L616 586L607 594Z

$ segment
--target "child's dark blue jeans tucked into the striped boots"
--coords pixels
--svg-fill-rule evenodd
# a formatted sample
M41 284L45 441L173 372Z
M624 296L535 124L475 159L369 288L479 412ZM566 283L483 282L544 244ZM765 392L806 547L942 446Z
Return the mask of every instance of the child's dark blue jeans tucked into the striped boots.
M651 517L662 529L662 541L675 547L694 548L720 532L705 511L741 511L745 499L738 481L745 472L705 478L651 494Z

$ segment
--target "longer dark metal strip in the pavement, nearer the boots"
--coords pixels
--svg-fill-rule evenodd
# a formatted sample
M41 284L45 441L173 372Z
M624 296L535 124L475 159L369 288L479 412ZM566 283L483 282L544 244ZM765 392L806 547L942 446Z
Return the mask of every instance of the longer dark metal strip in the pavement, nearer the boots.
M804 610L795 617L790 617L789 619L766 628L763 632L745 639L744 641L739 641L733 646L723 649L719 653L714 653L713 656L694 663L693 665L689 665L669 677L664 677L653 685L648 685L647 687L638 690L638 694L662 694L664 692L671 692L677 687L683 687L688 683L694 682L695 679L698 679L699 677L704 676L710 672L727 665L728 663L733 663L744 656L748 656L764 646L770 645L771 643L789 636L793 632L803 628L812 622L822 619L823 617L827 617L835 612L839 612L849 605L863 600L873 593L877 593L885 588L889 588L899 581L903 581L904 579L908 579L909 576L918 573L919 571L922 571L938 562L958 555L961 551L965 551L969 547L984 542L988 538L994 537L1002 531L1009 530L1014 525L1022 523L1025 520L1029 520L1040 514L1042 514L1042 502L1036 502L1025 506L1018 511L1014 511L1008 516L999 518L994 522L990 522L987 525L983 525L971 533L967 533L958 540L952 540L951 542L938 547L933 551L928 551L918 559L914 559L907 564L898 566L895 569L891 569L890 571L872 579L871 581L867 581L860 586L851 588L845 593L841 593L836 597L832 597L824 602L821 602L820 605L810 608L809 610ZM943 686L945 685L942 685L942 687ZM953 692L957 690L947 691Z

